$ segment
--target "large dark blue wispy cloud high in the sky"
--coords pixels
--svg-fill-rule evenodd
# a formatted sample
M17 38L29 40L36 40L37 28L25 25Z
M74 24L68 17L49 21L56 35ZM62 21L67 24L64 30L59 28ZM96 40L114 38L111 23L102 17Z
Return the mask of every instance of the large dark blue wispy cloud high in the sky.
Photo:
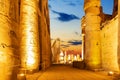
M68 22L71 20L79 20L80 18L75 16L74 14L66 14L66 13L62 13L62 12L57 12L52 10L53 13L58 14L59 17L57 17L56 19L61 21L61 22Z

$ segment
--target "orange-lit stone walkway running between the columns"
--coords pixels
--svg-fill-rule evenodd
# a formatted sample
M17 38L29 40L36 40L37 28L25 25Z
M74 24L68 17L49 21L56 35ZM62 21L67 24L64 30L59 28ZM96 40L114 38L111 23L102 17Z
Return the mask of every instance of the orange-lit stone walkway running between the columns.
M27 80L113 80L106 72L80 70L66 65L54 65L46 71L27 75Z

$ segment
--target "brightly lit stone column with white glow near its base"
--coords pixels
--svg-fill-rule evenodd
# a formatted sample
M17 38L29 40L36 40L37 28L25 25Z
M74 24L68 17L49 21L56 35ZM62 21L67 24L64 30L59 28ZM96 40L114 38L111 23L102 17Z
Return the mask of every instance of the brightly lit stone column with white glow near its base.
M21 67L27 71L39 69L38 0L21 0L20 55Z

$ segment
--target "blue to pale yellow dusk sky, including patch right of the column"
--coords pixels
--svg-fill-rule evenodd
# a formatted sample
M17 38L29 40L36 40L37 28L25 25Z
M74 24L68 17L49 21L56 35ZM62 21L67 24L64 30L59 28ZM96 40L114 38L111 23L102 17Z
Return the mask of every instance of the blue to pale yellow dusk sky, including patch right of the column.
M49 0L51 38L60 38L70 45L78 46L81 42L80 20L84 16L84 0ZM112 13L113 0L101 0L103 12ZM69 46L68 46L69 45Z

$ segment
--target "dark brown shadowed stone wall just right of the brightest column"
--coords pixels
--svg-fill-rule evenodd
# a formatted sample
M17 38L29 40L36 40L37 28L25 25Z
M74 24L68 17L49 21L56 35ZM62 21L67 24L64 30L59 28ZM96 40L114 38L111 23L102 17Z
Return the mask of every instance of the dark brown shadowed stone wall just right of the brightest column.
M51 65L51 40L48 1L39 2L40 66L44 70Z

